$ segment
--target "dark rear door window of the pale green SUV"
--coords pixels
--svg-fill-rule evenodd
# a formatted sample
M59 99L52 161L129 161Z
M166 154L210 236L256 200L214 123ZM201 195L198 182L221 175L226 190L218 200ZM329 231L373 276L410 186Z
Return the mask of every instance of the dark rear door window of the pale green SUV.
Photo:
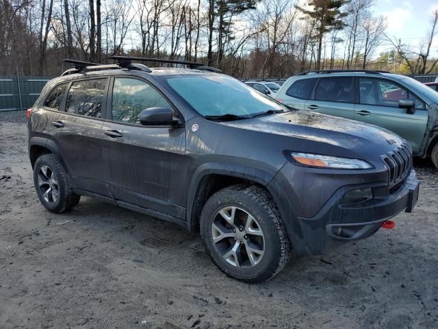
M352 101L352 77L323 77L315 89L317 101Z

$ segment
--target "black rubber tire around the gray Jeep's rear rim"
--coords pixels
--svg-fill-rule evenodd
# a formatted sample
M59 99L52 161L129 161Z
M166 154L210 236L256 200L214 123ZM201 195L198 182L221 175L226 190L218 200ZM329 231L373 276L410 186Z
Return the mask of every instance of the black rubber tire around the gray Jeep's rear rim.
M44 165L53 171L57 179L59 197L56 202L47 202L38 188L38 173ZM36 195L38 195L38 199L40 199L44 208L57 214L76 206L81 199L80 195L73 193L73 188L68 183L67 175L60 161L53 154L43 154L36 159L34 165L34 186Z

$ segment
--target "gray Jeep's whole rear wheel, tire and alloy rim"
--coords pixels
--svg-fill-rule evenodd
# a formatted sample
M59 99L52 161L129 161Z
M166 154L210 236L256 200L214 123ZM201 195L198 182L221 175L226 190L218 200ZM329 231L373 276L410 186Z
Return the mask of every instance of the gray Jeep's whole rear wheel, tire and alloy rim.
M34 185L42 205L51 212L64 212L79 203L66 173L53 154L40 156L34 165Z

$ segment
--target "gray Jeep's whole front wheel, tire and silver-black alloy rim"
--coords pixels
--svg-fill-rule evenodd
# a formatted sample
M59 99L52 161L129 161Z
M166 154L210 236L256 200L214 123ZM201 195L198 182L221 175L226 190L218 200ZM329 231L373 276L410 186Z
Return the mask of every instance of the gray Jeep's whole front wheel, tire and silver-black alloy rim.
M201 213L201 236L219 269L244 282L270 280L290 256L276 205L257 186L235 185L212 195Z

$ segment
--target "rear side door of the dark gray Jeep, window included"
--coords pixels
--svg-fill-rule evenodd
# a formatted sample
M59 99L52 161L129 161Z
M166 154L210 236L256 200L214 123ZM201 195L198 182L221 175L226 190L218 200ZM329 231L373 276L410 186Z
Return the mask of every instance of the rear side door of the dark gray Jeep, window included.
M51 117L53 138L75 187L110 195L109 170L102 162L101 128L109 78L75 80L62 105Z

